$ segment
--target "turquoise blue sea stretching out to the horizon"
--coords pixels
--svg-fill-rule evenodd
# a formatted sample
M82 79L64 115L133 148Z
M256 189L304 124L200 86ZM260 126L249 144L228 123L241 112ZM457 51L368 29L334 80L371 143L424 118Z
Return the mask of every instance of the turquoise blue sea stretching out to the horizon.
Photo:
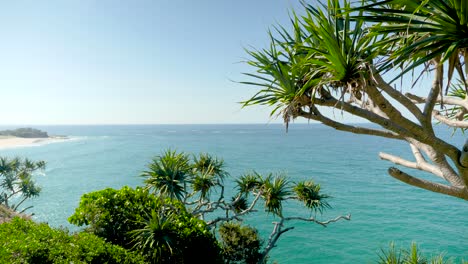
M468 260L466 201L405 185L386 170L380 151L411 158L401 142L347 134L317 124L281 125L135 125L35 126L73 140L43 146L0 150L2 156L47 161L37 176L41 195L29 204L35 219L77 230L67 222L80 196L107 187L142 184L138 175L151 158L168 148L188 153L208 152L225 160L234 179L242 173L284 172L292 180L314 179L321 184L332 209L320 219L350 213L351 221L327 228L294 222L271 253L278 263L374 263L391 241L408 247L412 241L424 252L445 253ZM465 137L437 127L444 138L460 146ZM404 169L411 172L409 169ZM420 173L414 173L421 175ZM287 214L308 214L290 205ZM266 239L271 217L256 215L247 223Z

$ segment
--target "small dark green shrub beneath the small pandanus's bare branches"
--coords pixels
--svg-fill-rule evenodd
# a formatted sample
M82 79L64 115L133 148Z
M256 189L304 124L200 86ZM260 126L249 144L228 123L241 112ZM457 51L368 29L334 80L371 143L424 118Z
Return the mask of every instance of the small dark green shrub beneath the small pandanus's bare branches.
M227 263L258 263L262 240L256 229L226 222L219 227L223 256Z

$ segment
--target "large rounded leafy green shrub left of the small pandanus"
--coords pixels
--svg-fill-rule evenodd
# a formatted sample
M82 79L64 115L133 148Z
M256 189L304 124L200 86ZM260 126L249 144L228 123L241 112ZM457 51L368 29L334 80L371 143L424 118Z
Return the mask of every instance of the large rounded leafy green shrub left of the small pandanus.
M220 263L216 238L182 203L142 188L105 189L82 196L70 223L144 254L153 263Z

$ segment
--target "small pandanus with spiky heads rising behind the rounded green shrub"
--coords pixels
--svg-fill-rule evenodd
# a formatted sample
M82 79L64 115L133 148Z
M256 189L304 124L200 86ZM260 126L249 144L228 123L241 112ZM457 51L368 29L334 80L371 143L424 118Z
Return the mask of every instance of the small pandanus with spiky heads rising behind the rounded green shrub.
M166 167L170 169L163 169ZM184 168L184 173L181 173L180 167ZM247 215L257 212L263 203L264 211L278 221L273 223L274 227L265 247L258 252L258 263L264 263L282 234L294 229L294 226L287 227L287 222L314 222L325 227L332 222L351 219L350 215L346 215L321 221L315 217L316 214L311 216L310 212L322 213L324 209L330 208L327 201L329 196L323 194L320 185L313 181L293 183L285 175L263 176L257 172L244 174L235 180L235 189L231 192L234 195L227 198L224 180L229 177L229 173L225 170L223 160L209 154L202 153L190 159L185 153L166 151L153 159L142 176L147 190L153 190L160 198L169 197L181 201L193 216L204 220L212 229L216 229L218 225L221 225L221 229L226 229L226 224L229 226L233 221L241 222ZM173 193L171 190L177 192ZM302 204L309 209L309 214L285 215L283 205L287 201ZM151 229L142 229L138 231L138 235L147 234L148 230ZM144 241L146 240L141 243L145 244Z

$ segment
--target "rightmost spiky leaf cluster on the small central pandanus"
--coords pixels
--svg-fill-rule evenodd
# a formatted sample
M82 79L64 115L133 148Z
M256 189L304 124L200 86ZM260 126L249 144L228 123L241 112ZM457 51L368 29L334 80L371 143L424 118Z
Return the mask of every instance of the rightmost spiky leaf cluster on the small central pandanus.
M326 201L330 196L320 193L320 185L315 184L313 181L303 181L297 183L294 188L297 199L304 203L304 205L320 213L324 209L330 208L330 204Z

